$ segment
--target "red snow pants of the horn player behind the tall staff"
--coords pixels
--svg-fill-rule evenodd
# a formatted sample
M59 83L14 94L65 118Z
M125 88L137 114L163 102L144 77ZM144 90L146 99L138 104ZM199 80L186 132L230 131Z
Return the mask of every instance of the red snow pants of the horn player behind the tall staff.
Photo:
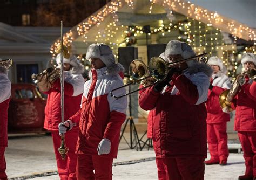
M77 155L75 151L78 139L78 128L65 133L66 147L69 148L65 160L62 160L58 151L61 144L59 131L56 130L51 133L60 180L76 180Z

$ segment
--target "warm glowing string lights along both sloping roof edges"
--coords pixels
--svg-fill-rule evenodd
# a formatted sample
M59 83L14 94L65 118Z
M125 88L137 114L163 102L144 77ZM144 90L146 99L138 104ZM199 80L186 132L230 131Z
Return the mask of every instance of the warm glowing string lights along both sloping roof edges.
M150 0L151 9L153 8L153 4L161 4L165 8L169 8L170 10L174 10L176 12L183 12L185 16L195 18L201 22L207 22L208 25L212 26L225 24L224 31L227 31L231 34L235 34L237 37L245 36L248 34L248 38L256 41L256 36L254 30L250 29L250 27L243 25L241 23L237 23L234 20L231 22L227 22L227 19L222 18L217 12L208 11L207 9L200 8L192 4L191 2L183 2L182 0ZM118 21L118 17L116 12L119 8L122 8L124 4L129 5L129 7L133 8L134 2L133 0L117 0L111 1L109 4L105 5L100 11L97 12L96 15L92 15L87 18L84 22L79 23L75 28L70 30L68 33L64 34L63 42L64 44L72 44L73 40L76 37L83 37L84 42L87 39L87 32L94 25L99 26L106 16L112 14L113 18ZM56 54L56 47L60 44L60 41L57 40L50 49L50 52L53 54L53 57ZM200 44L200 41L199 41ZM255 43L256 44L256 43Z

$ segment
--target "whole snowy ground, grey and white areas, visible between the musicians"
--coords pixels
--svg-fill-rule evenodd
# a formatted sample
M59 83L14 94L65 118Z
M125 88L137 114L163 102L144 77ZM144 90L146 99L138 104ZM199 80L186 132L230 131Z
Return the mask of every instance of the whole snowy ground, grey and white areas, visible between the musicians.
M37 135L9 139L5 157L6 172L10 179L59 179L56 175L57 168L51 136ZM239 175L244 174L244 169L242 154L230 154L225 167L207 165L205 179L238 179ZM50 173L44 174L44 177L37 177L38 175L42 176L44 172ZM46 176L49 174L51 175ZM153 150L147 151L145 148L143 151L136 151L129 149L125 142L121 142L118 158L114 160L113 179L157 179Z

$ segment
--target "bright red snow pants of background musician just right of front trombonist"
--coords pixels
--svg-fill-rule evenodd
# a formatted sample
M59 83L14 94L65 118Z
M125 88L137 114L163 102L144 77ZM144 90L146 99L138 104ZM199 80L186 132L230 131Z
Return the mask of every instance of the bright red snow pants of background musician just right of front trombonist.
M207 141L211 159L227 161L227 122L207 124Z

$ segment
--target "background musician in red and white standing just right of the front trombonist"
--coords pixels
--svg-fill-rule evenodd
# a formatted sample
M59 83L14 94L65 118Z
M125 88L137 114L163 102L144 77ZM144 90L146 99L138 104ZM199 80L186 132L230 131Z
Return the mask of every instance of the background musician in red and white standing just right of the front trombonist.
M225 75L226 68L218 57L211 57L208 65L213 70L206 102L207 141L211 159L205 161L205 164L227 165L227 121L230 121L230 115L222 111L219 105L219 95L231 88L231 82Z

